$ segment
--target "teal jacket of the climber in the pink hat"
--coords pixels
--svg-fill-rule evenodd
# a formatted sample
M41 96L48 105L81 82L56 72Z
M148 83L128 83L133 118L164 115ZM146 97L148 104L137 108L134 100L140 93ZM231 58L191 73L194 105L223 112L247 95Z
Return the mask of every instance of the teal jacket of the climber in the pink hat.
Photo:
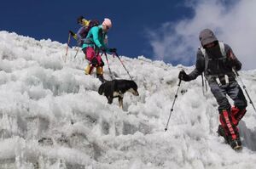
M104 43L106 37L107 33L102 30L102 25L94 26L88 32L88 35L84 40L82 48L96 46L96 48L103 47L107 49L106 44Z

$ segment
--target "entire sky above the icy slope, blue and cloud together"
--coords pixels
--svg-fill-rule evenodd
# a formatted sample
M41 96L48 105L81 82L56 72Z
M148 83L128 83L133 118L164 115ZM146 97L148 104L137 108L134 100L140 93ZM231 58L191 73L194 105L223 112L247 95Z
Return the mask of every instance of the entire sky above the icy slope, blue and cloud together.
M76 19L109 18L109 47L120 55L194 65L199 32L210 28L230 44L243 68L255 69L256 1L242 0L129 0L129 1L3 1L0 30L35 39L67 42ZM73 43L75 45L75 43Z

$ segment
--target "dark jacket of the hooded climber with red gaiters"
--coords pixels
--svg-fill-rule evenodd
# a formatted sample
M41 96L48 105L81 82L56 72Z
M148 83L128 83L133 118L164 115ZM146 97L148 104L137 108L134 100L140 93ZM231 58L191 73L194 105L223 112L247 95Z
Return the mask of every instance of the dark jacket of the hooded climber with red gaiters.
M206 57L209 59L206 70L206 58L199 48L197 51L195 70L189 74L189 79L194 80L197 76L200 76L202 72L205 73L206 77L223 75L235 76L232 67L236 70L241 70L241 62L236 58L236 55L229 45L224 44L224 52L226 57L221 54L219 45L216 45L212 49L206 49ZM207 80L209 79L207 78Z

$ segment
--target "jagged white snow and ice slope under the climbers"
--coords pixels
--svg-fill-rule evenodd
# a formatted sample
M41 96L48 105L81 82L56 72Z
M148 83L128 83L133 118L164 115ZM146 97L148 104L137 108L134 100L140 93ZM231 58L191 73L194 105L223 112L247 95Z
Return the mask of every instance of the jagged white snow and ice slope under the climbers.
M125 93L123 111L97 93L95 74L84 75L81 51L74 59L70 48L64 63L66 45L0 31L0 168L256 168L251 104L239 153L218 138L218 106L211 92L203 96L200 77L182 82L165 132L182 65L120 57L140 93ZM129 79L119 59L108 59L115 78ZM253 103L255 73L241 71Z

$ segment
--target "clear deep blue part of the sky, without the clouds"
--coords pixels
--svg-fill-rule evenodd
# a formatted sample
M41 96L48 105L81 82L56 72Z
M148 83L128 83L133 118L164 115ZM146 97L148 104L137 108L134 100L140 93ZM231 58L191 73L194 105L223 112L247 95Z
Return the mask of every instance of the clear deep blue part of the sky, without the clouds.
M165 22L179 20L191 13L180 0L22 0L15 3L3 1L1 6L1 30L62 43L67 42L69 29L79 29L76 23L79 15L101 22L108 17L113 21L113 29L108 33L109 46L118 48L122 55L145 55L148 58L152 58L153 50L147 30L157 29Z

